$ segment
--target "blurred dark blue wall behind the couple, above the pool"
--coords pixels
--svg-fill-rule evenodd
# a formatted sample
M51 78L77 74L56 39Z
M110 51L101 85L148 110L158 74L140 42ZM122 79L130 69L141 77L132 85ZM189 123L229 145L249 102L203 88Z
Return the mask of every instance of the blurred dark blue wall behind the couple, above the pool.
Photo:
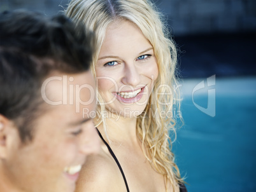
M255 0L154 0L180 48L182 78L256 75ZM0 0L55 15L68 0Z

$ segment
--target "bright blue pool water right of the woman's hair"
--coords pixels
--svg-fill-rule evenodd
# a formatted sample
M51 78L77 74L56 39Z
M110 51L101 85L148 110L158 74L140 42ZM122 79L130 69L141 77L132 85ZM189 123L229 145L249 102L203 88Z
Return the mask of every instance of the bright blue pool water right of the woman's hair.
M182 85L184 125L173 144L176 163L189 192L256 191L256 78L218 79L215 116L206 108L208 90L193 88L206 79ZM194 99L194 102L192 100Z

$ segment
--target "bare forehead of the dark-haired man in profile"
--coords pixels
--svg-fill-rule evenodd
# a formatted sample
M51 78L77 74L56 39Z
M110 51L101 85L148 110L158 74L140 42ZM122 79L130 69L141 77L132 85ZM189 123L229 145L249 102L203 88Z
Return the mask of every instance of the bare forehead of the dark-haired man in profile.
M80 113L96 107L96 82L90 71L78 74L53 72L41 86L41 97L50 107Z

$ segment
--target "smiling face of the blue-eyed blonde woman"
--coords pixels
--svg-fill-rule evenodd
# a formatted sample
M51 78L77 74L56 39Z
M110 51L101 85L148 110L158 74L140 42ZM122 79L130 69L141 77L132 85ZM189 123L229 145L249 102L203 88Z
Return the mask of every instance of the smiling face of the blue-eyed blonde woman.
M153 46L135 24L117 20L108 26L98 58L98 90L106 108L136 118L158 76Z

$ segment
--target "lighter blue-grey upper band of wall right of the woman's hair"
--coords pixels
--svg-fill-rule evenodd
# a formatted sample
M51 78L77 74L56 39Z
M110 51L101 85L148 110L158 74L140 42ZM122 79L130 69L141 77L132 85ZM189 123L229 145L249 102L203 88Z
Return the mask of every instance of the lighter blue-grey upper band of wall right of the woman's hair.
M155 0L174 34L255 31L255 0Z

